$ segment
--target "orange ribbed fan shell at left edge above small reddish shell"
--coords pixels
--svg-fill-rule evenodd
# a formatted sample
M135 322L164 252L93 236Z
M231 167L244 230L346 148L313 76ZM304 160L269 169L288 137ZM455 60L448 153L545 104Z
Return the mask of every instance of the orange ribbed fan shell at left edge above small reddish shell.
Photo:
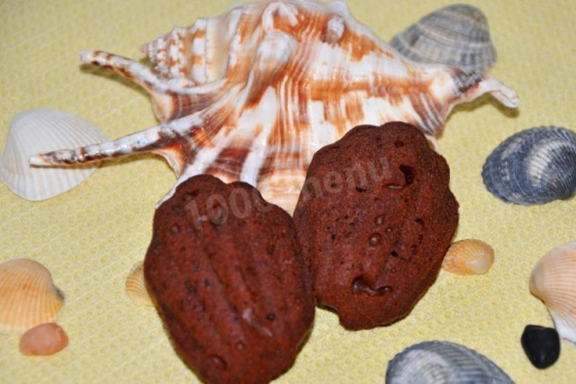
M42 264L15 259L0 264L0 332L22 334L33 326L54 321L64 295Z

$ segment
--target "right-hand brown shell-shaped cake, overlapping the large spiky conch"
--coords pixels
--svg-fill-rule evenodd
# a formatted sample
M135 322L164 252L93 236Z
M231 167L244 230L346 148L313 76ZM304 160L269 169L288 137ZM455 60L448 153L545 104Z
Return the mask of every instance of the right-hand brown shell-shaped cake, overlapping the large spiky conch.
M444 157L403 122L359 126L314 155L294 222L319 305L347 329L406 317L458 223Z

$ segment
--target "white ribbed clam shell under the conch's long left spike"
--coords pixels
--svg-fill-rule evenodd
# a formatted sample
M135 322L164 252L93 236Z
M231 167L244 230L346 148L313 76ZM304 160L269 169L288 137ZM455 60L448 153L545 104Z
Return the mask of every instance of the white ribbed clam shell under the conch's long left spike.
M4 154L0 156L0 179L24 199L49 199L82 183L94 174L97 165L38 167L29 164L29 157L46 150L85 146L105 139L94 124L67 112L19 113L10 123Z

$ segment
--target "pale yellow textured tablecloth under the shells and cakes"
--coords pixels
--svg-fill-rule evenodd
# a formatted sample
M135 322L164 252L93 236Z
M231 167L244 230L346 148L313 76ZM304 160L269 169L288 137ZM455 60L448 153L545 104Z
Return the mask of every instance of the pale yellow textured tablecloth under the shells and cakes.
M460 202L456 239L479 238L496 251L482 276L441 272L409 317L371 331L347 332L317 309L310 340L281 382L382 382L387 363L410 344L448 340L490 357L518 382L574 382L576 347L536 370L519 343L527 324L552 326L528 291L533 265L576 238L576 200L509 205L482 184L482 164L504 138L538 125L576 129L574 0L472 1L491 23L499 61L491 70L518 91L518 112L490 97L456 108L439 140ZM82 49L141 58L139 46L232 0L0 2L0 147L18 112L48 107L75 113L118 138L156 123L134 85L79 64ZM356 18L384 40L447 1L350 2ZM145 255L154 204L175 181L152 156L109 162L71 192L30 202L0 184L0 262L45 264L66 293L58 323L70 344L51 357L24 357L17 336L0 335L0 382L184 382L195 376L176 356L153 308L124 292L130 266Z

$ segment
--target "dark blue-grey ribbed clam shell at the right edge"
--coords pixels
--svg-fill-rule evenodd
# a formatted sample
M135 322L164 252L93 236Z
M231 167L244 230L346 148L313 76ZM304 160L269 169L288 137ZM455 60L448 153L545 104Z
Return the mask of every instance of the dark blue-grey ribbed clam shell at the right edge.
M482 179L488 191L507 202L570 199L576 193L576 132L554 126L522 130L488 156Z

